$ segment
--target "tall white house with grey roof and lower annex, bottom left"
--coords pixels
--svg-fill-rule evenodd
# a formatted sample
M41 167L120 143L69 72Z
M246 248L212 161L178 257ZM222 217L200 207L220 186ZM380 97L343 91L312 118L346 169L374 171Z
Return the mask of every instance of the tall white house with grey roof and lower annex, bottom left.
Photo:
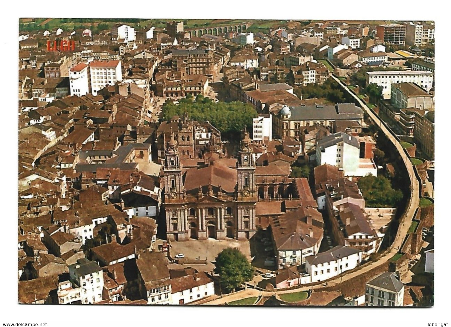
M70 282L58 285L58 303L93 304L102 300L103 271L94 261L78 259L69 266Z

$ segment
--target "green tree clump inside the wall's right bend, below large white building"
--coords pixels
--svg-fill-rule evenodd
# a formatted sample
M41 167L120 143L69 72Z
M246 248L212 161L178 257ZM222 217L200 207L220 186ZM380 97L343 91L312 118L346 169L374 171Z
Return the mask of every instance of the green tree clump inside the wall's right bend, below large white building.
M402 192L391 188L390 180L384 176L367 175L360 178L357 184L368 207L391 208L402 199Z

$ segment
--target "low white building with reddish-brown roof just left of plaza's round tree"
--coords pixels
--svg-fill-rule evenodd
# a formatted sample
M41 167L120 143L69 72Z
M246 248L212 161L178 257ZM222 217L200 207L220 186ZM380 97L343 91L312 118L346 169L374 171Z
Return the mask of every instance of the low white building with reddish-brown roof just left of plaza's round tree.
M215 283L205 272L196 272L170 280L172 286L171 303L188 304L215 294Z

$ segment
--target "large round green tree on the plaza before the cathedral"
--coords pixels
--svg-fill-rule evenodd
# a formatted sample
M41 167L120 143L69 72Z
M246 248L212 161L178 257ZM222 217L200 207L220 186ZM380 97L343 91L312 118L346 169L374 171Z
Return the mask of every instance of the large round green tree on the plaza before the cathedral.
M237 248L225 248L216 257L215 273L219 274L220 287L227 292L252 280L254 270L248 259Z

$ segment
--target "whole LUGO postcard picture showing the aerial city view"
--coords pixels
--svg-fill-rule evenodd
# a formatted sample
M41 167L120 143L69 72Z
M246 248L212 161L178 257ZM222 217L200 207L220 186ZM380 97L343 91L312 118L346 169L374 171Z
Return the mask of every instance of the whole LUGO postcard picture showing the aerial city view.
M18 24L19 304L434 305L433 21Z

